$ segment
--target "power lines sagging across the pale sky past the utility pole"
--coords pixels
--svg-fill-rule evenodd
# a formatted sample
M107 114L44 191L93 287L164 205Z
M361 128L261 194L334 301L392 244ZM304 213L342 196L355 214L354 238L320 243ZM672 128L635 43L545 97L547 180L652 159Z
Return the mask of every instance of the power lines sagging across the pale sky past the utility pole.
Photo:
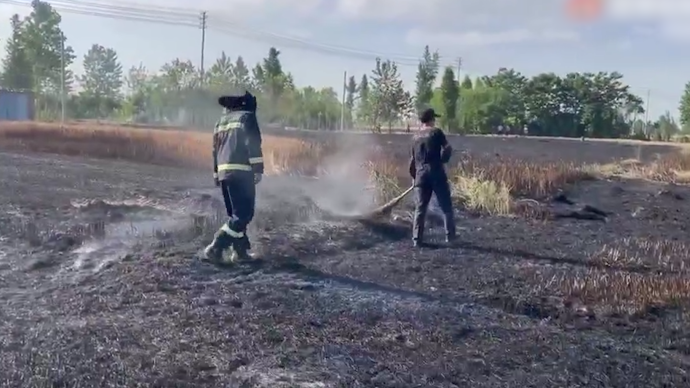
M31 5L27 0L0 0L0 3L19 6ZM185 8L135 6L131 5L131 3L130 5L123 5L127 3L113 5L81 0L56 0L51 1L50 4L58 11L66 13L195 28L199 28L199 15L204 14L203 12ZM259 30L239 24L236 21L215 18L213 15L208 15L205 20L208 30L250 41L261 41L272 45L292 47L338 57L365 60L381 58L384 60L391 60L400 67L418 66L420 61L419 57L409 55L377 53L374 51L310 41L271 31ZM217 22L217 24L215 22ZM454 63L451 61L448 61L448 63L442 63L441 67L452 66L453 64Z

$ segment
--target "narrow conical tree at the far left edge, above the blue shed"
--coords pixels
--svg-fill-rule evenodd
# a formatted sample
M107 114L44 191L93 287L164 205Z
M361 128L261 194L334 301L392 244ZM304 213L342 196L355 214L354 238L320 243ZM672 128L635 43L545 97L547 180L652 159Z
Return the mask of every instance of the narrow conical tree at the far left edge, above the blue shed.
M14 14L10 22L12 23L12 35L7 40L5 47L0 84L7 89L31 90L33 77L22 40L22 21L19 15Z

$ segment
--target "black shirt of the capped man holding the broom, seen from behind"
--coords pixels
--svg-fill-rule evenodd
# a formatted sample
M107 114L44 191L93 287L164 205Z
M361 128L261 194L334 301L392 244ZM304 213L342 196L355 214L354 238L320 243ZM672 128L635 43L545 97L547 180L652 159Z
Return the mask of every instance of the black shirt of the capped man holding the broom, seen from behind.
M412 157L410 158L410 175L417 172L439 172L445 175L443 164L450 160L451 149L446 135L439 128L425 128L414 136Z

